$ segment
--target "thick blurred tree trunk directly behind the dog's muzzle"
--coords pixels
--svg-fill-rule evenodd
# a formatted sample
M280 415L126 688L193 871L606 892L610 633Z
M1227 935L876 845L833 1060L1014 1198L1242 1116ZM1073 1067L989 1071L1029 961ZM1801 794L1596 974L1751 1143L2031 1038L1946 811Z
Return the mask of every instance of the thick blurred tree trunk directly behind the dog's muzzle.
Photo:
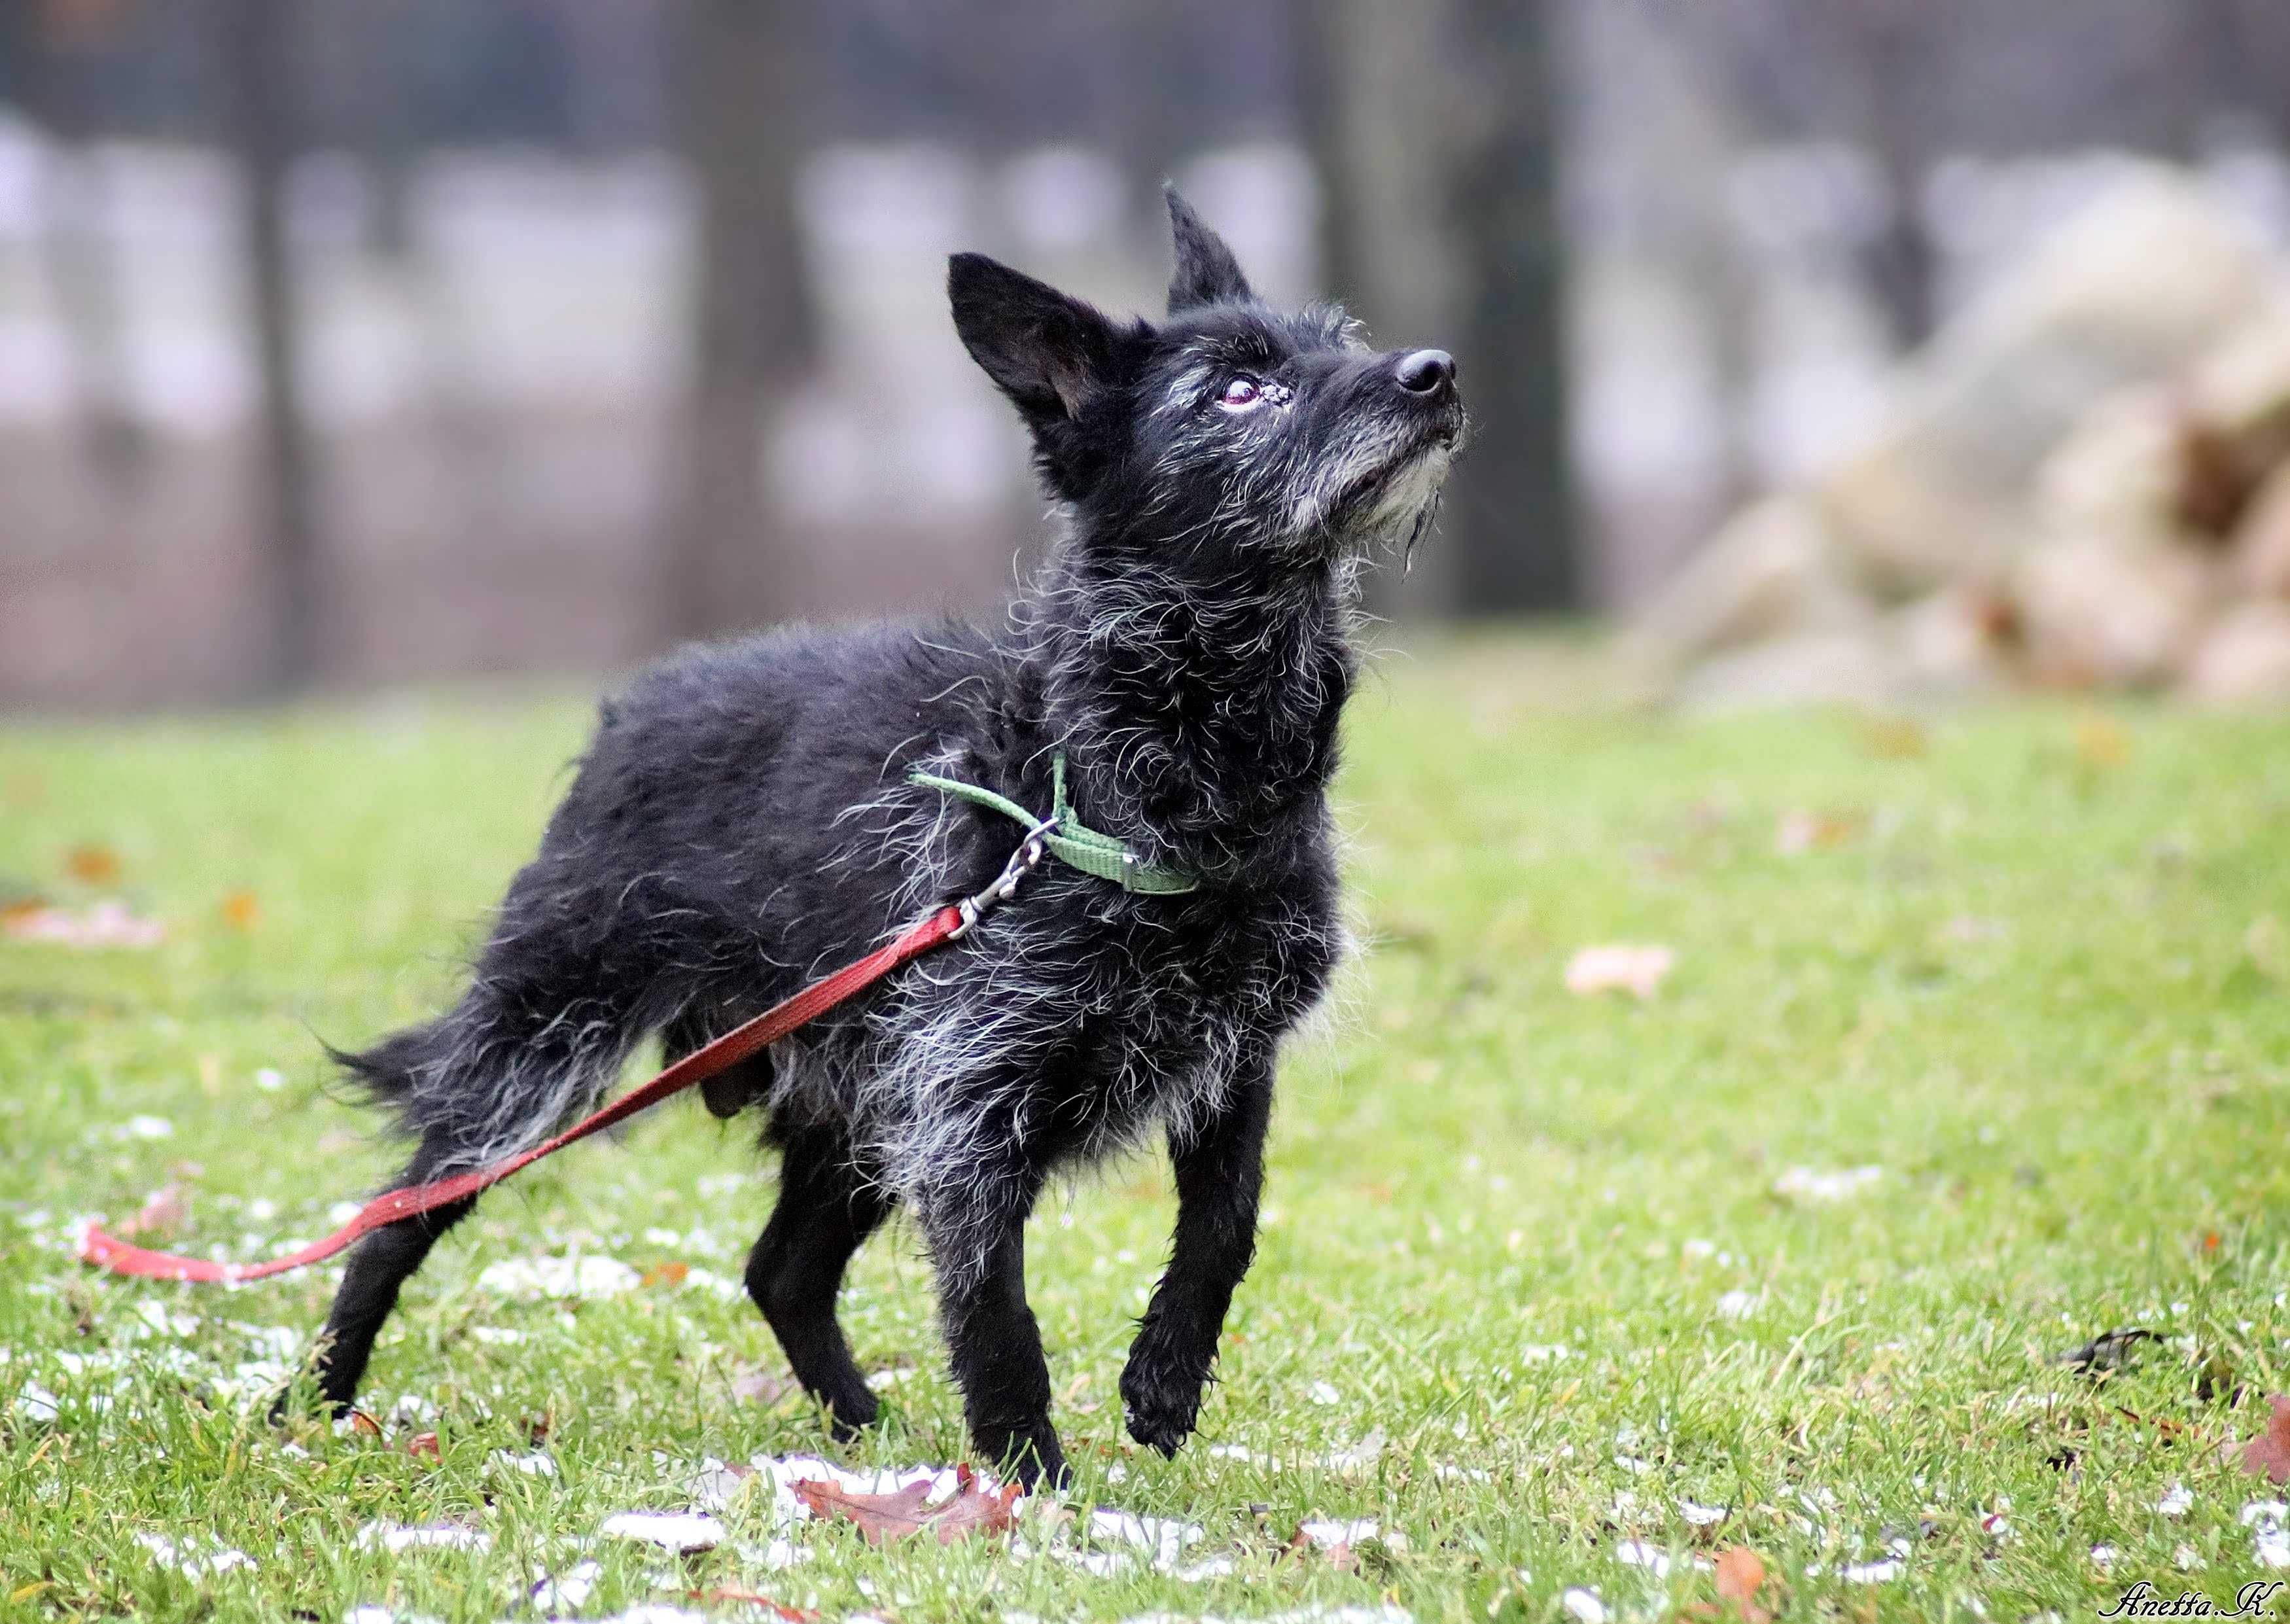
M1376 607L1578 600L1555 0L1296 0L1330 289L1381 346L1454 350L1475 442L1418 586Z

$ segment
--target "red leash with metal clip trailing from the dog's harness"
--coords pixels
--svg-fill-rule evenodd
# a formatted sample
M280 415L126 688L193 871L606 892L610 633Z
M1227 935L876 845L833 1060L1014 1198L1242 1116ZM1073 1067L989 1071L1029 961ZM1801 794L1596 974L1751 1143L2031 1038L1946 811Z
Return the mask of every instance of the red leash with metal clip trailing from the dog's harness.
M598 1134L611 1127L614 1122L625 1122L627 1118L637 1115L637 1111L646 1111L648 1106L660 1104L669 1095L680 1095L694 1083L708 1081L724 1067L737 1065L758 1049L779 1042L797 1026L815 1022L838 1003L854 999L856 994L866 992L868 987L872 987L877 980L900 969L902 964L918 960L923 953L930 953L932 948L946 941L953 941L955 937L966 932L973 923L978 923L978 916L985 909L1008 900L1010 893L1017 889L1017 882L1026 875L1026 870L1030 870L1037 861L1042 861L1040 836L1042 831L1028 836L1026 843L1019 845L1017 854L1010 859L1010 866L1003 870L1001 880L996 880L978 896L964 902L948 902L923 923L909 928L895 941L868 953L863 960L845 964L824 980L811 983L792 999L774 1003L769 1010L747 1022L744 1026L731 1028L705 1049L694 1049L653 1081L643 1083L641 1088L632 1088L602 1111L582 1118L579 1122L561 1132L556 1138L534 1145L531 1150L522 1150L515 1157L495 1161L492 1166L469 1168L467 1173L442 1177L435 1184L414 1184L410 1189L394 1189L387 1196L376 1196L360 1209L355 1219L344 1223L323 1241L311 1241L302 1251L286 1253L284 1258L273 1258L270 1262L215 1262L213 1258L183 1258L176 1253L153 1253L144 1251L142 1246L128 1246L126 1241L112 1239L103 1230L89 1225L87 1235L80 1239L80 1258L85 1262L110 1269L112 1274L131 1274L131 1276L142 1276L147 1280L208 1280L208 1283L236 1285L240 1280L263 1280L273 1274L302 1269L307 1264L332 1258L334 1253L339 1253L369 1230L378 1230L389 1223L403 1223L405 1219L417 1219L424 1212L435 1212L437 1207L447 1207L456 1200L467 1200L469 1196L476 1196L481 1189L490 1189L502 1180L506 1180L508 1175L534 1166L536 1161L540 1161L540 1157L552 1157L566 1145L589 1138L591 1134Z

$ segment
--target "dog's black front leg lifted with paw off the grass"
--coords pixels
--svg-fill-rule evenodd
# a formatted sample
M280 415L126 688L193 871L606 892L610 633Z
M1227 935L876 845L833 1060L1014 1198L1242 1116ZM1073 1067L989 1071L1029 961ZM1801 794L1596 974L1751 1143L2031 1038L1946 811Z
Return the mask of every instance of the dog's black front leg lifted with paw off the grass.
M1214 1115L1170 1134L1177 1237L1122 1370L1129 1436L1163 1454L1175 1454L1193 1434L1232 1290L1257 1251L1257 1191L1264 1187L1271 1109L1273 1058L1266 1049L1239 1065Z

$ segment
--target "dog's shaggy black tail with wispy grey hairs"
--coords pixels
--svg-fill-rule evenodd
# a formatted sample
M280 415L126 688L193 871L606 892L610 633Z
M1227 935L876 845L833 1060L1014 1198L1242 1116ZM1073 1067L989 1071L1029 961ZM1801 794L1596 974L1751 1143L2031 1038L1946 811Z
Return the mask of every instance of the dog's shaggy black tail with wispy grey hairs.
M421 1141L417 1166L437 1177L513 1157L593 1111L637 1035L614 1010L536 1012L479 980L437 1019L332 1056L357 1095Z

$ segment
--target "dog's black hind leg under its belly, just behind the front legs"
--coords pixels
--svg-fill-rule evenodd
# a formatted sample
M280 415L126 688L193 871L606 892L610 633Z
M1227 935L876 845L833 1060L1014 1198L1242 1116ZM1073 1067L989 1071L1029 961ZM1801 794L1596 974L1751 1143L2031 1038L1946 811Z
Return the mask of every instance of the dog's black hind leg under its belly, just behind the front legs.
M836 1438L875 1420L875 1395L836 1324L843 1271L889 1216L889 1198L852 1166L850 1141L829 1127L776 1129L779 1205L747 1260L747 1294L769 1322L804 1393L827 1406Z

